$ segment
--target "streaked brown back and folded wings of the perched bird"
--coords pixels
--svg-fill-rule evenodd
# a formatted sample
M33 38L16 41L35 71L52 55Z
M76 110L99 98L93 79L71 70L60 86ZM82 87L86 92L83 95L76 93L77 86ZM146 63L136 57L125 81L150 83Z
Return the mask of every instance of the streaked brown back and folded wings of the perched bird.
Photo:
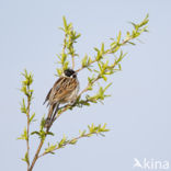
M56 82L53 87L49 103L56 103L62 101L66 96L77 88L78 82L73 78L62 77L60 81Z

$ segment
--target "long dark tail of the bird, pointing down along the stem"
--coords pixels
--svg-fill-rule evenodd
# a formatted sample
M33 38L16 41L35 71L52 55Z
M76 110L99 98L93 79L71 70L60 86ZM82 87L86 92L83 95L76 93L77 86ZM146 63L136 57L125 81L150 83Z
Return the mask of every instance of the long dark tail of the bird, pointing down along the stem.
M49 106L48 115L45 122L45 127L48 128L55 121L55 116L59 110L59 103Z

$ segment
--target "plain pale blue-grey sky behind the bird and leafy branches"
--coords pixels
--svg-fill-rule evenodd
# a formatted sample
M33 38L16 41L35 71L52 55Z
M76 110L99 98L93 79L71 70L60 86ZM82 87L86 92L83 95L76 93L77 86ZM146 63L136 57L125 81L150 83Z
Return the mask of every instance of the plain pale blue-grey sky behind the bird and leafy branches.
M109 43L119 30L130 30L128 22L140 22L147 13L150 32L140 36L144 43L125 48L128 55L122 62L123 71L111 79L112 98L104 105L65 113L53 126L53 141L62 134L77 136L91 123L107 123L111 132L104 138L84 138L55 156L46 156L34 170L134 170L134 158L169 160L171 164L170 0L0 0L0 170L26 170L20 160L25 141L16 140L26 123L20 113L20 72L26 68L34 73L32 112L39 121L47 113L43 101L56 80L62 15L82 34L77 45L82 57L86 53L93 56L94 46ZM79 73L81 89L86 77L86 71ZM33 125L33 129L37 127ZM31 148L37 144L33 137Z

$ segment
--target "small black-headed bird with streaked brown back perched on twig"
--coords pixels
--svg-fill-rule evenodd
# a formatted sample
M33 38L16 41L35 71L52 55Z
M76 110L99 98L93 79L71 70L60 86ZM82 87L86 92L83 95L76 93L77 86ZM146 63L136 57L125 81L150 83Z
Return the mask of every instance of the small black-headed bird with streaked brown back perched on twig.
M59 110L59 104L75 103L79 92L79 81L77 72L72 69L66 69L59 79L54 83L49 90L45 102L48 110L48 116L45 122L45 127L48 128L54 122L55 116Z

